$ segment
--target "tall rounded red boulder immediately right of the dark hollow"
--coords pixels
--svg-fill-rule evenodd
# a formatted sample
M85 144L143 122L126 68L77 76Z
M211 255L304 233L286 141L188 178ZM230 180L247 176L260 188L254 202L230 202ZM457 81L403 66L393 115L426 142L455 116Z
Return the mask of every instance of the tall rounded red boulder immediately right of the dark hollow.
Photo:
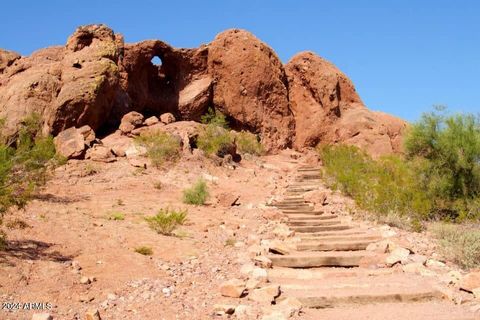
M260 133L269 151L291 145L293 114L280 59L265 43L244 30L227 30L209 45L213 104L232 126Z

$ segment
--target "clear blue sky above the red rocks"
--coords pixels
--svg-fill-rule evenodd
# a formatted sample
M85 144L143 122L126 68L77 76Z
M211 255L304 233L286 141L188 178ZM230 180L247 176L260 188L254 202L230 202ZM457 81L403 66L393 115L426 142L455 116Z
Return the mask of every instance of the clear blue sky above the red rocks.
M127 42L177 47L244 28L287 62L312 50L335 63L375 110L418 119L433 104L480 112L478 0L5 1L0 47L21 54L105 23Z

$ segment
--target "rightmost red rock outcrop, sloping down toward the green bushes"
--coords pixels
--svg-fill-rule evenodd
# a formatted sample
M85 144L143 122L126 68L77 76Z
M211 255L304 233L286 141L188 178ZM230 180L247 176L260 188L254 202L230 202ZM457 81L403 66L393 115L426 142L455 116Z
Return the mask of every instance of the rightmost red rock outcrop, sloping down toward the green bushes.
M312 52L286 65L297 149L348 143L374 156L400 152L405 122L368 110L348 77Z

